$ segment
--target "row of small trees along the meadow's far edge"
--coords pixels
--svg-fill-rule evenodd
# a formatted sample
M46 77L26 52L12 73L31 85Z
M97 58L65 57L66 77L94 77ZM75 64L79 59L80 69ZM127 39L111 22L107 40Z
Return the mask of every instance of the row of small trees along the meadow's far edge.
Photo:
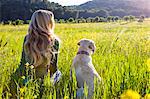
M123 18L119 16L108 16L106 18L104 17L99 17L96 16L95 18L89 17L89 18L69 18L69 19L55 19L56 23L99 23L99 22L133 22L133 21L138 21L138 22L143 22L144 21L144 16L141 17L135 17L135 16L124 16ZM30 20L23 21L23 20L14 20L14 21L6 21L6 22L1 22L2 25L23 25L23 24L29 24Z

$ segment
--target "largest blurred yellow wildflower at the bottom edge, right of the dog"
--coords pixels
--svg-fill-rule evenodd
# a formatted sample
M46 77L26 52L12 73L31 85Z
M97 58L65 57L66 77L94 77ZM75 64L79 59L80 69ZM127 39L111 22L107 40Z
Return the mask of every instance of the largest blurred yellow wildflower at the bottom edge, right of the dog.
M140 99L140 97L141 96L137 92L133 90L127 90L121 95L120 99Z

